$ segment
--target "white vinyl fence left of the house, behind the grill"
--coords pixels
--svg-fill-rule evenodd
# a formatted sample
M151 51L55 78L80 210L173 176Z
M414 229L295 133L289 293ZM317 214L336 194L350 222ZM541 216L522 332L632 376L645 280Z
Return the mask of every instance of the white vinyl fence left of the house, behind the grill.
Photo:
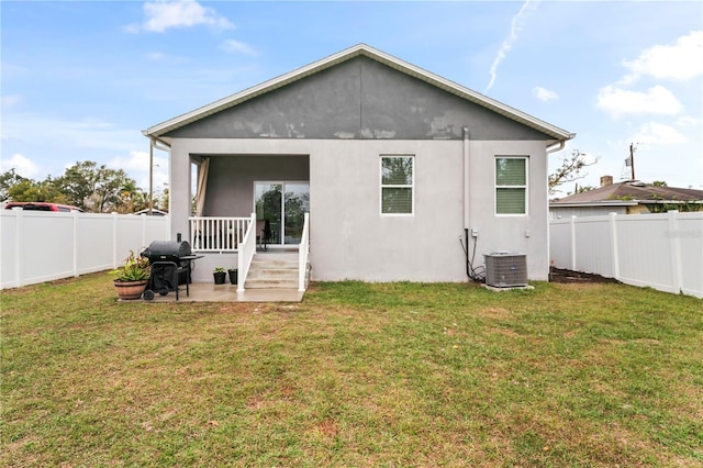
M167 239L168 216L0 210L0 289L114 269Z

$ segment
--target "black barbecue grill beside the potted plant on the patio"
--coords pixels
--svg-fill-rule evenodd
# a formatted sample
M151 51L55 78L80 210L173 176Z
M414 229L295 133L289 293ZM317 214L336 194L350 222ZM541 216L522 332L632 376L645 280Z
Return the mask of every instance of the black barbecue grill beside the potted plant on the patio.
M149 285L144 291L143 298L147 301L154 299L155 292L166 296L169 291L176 291L178 300L178 286L186 285L186 296L190 296L190 271L196 256L186 241L154 241L142 252L152 266Z

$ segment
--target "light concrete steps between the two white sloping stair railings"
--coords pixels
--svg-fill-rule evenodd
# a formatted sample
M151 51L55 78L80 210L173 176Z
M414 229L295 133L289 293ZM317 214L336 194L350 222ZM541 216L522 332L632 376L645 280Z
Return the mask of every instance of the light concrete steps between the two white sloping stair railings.
M298 289L298 253L254 254L244 288Z

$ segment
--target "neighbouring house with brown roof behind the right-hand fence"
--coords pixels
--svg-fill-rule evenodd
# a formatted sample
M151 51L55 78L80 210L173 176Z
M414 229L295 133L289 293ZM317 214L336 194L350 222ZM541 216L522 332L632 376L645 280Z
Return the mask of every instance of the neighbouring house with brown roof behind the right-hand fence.
M602 216L609 213L643 214L670 210L703 209L703 190L652 186L639 180L613 183L601 177L601 187L549 202L553 220L571 216Z

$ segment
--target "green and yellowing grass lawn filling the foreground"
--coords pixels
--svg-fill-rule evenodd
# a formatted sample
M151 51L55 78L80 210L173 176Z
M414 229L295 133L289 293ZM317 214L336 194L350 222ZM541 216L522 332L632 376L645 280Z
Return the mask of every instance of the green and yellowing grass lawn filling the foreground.
M3 291L0 465L703 466L703 301L534 286Z

